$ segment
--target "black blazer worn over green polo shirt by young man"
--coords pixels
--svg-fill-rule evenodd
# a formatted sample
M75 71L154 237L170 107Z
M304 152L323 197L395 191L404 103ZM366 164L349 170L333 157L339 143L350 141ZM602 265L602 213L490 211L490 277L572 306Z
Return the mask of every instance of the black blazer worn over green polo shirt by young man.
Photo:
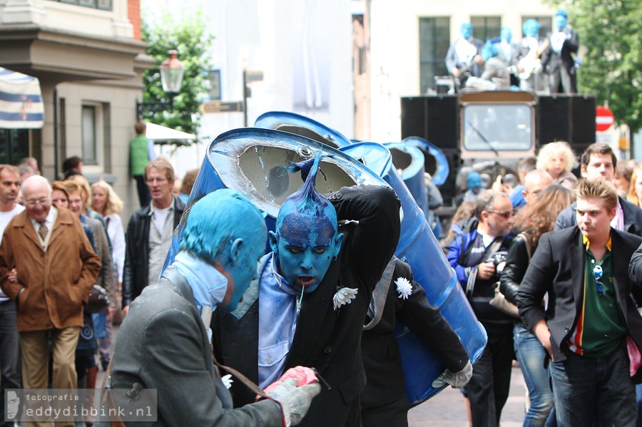
M618 308L625 321L628 334L642 348L642 317L638 313L631 293L642 293L642 284L633 284L627 270L631 255L642 243L640 237L611 228L613 242L613 284ZM584 245L578 227L541 236L529 268L517 291L517 307L526 327L531 329L541 319L546 319L551 331L553 359L566 359L566 344L575 329L581 305L584 302ZM546 312L541 305L544 294L549 293ZM641 375L638 371L638 376ZM641 378L642 379L642 378Z

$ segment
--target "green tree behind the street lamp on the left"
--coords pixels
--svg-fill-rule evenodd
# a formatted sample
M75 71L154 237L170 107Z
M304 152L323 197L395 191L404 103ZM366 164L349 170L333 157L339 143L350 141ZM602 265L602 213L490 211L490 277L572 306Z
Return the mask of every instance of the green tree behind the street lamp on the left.
M208 71L212 67L208 49L214 36L206 31L205 17L200 10L185 13L182 19L166 10L158 14L158 19L147 18L143 16L142 37L148 43L146 53L156 58L156 66L143 73L143 103L167 103L167 107L153 112L153 108L146 106L143 115L153 123L196 133L201 115L200 99L209 89ZM185 68L183 84L180 93L174 97L172 110L168 107L170 97L163 91L159 72L170 49L178 51L178 59Z

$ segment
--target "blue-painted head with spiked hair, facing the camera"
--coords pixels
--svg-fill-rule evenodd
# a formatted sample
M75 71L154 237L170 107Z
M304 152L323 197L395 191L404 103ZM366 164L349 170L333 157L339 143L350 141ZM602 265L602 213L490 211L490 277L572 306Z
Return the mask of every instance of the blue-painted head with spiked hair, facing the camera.
M312 292L341 249L337 234L337 212L330 201L315 190L321 153L312 161L303 186L287 197L277 216L276 231L270 232L280 274L297 291ZM305 173L309 163L301 165Z

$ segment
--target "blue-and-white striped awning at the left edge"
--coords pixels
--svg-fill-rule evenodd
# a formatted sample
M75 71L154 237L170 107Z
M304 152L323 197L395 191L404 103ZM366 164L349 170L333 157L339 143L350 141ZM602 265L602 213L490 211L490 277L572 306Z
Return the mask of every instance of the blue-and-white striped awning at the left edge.
M0 67L0 128L39 129L43 120L38 79Z

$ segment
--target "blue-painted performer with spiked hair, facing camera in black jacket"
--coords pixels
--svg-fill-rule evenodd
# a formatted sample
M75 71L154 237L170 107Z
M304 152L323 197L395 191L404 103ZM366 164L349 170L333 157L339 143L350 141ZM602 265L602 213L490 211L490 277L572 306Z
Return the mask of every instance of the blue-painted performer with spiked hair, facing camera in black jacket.
M399 240L399 200L370 185L323 197L314 188L319 162L302 165L305 184L282 203L259 279L238 309L215 313L214 351L260 386L291 366L315 367L330 389L301 425L361 426L362 327ZM236 406L254 398L238 384L232 393Z

